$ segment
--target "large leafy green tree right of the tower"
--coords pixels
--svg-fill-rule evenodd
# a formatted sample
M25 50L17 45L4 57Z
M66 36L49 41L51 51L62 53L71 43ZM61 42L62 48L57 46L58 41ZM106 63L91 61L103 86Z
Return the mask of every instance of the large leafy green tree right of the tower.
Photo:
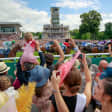
M92 39L96 39L99 31L100 22L102 20L100 13L95 10L80 15L81 25L79 27L80 34L91 33Z

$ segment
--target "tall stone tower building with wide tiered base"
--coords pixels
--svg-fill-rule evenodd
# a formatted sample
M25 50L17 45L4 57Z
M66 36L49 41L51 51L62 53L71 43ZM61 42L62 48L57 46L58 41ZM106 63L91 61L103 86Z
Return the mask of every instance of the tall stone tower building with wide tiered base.
M46 24L43 27L43 38L70 38L69 26L60 24L60 15L58 7L51 7L51 24Z

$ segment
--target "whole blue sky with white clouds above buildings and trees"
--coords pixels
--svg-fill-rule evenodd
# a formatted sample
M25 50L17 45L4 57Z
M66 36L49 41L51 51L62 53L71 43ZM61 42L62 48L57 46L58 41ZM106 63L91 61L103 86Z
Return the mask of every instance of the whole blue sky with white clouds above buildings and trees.
M19 22L25 32L42 32L50 24L50 7L60 7L60 23L78 29L80 14L90 10L102 16L100 30L112 22L112 0L0 0L0 22Z

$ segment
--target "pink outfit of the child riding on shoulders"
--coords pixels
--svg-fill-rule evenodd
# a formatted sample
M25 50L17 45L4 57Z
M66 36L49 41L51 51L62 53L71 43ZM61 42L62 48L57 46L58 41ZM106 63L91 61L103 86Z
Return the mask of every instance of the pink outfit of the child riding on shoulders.
M21 64L23 64L24 62L35 63L37 61L36 57L34 56L35 46L36 43L34 40L26 42L24 44L24 52L21 57Z

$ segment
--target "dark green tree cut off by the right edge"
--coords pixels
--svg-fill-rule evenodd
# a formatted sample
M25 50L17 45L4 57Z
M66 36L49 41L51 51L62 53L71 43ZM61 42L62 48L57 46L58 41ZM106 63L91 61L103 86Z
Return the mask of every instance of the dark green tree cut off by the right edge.
M108 22L105 24L105 36L107 39L112 38L112 23Z

